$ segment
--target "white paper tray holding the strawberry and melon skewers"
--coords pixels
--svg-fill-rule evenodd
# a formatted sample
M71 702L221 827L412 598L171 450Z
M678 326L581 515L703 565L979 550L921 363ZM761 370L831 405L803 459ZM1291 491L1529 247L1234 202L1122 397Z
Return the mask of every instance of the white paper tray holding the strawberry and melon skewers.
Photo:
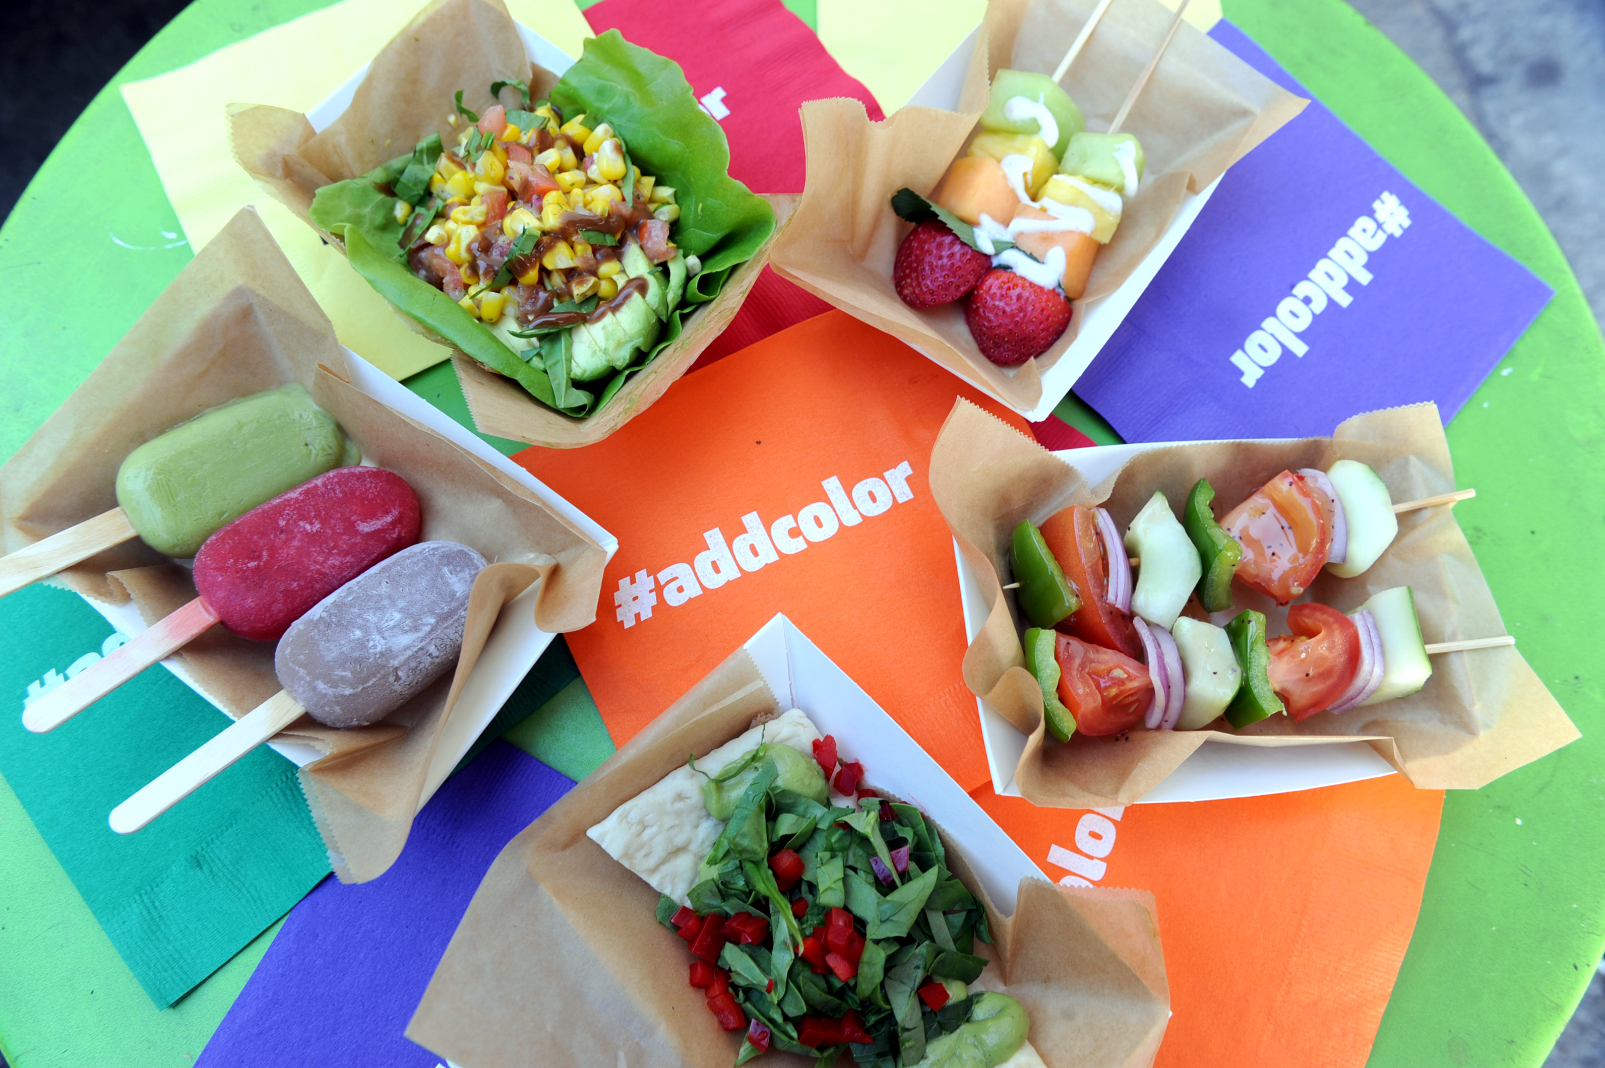
M949 56L941 67L936 69L924 85L921 85L913 96L908 98L910 104L920 107L941 107L944 111L958 111L958 96L965 88L965 74L969 71L969 56L976 50L976 34L979 27L969 34L953 55ZM313 123L316 125L316 123ZM1170 220L1170 228L1159 239L1159 244L1136 265L1132 276L1125 279L1120 289L1114 290L1101 300L1079 300L1075 301L1075 318L1080 322L1075 340L1071 346L1059 356L1058 362L1042 375L1042 399L1037 407L1032 409L1014 409L1034 423L1040 423L1053 409L1059 406L1064 394L1071 391L1075 380L1082 377L1082 372L1093 362L1093 358L1104 346L1111 337L1114 337L1115 327L1125 319L1127 313L1136 305L1136 298L1143 295L1148 284L1154 281L1159 274L1159 268L1165 265L1170 253L1175 252L1176 245L1181 244L1181 237L1193 226L1193 220L1199 216L1204 205L1209 202L1210 196L1215 194L1215 188L1220 186L1220 178L1212 181L1201 192L1189 192L1181 200L1181 208L1176 216ZM944 364L945 366L945 364ZM1000 404L1008 404L1000 396L995 396L987 390L985 382L979 378L971 378L965 375L974 388L981 390L993 401ZM1010 407L1014 407L1010 404Z

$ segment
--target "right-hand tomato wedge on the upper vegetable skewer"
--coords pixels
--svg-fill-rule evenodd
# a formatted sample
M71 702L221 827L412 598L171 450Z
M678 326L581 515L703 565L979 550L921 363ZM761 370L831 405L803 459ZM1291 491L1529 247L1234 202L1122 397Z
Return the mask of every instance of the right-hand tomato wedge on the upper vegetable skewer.
M1319 489L1292 471L1249 494L1220 523L1242 545L1237 577L1278 605L1310 589L1332 548L1329 507Z

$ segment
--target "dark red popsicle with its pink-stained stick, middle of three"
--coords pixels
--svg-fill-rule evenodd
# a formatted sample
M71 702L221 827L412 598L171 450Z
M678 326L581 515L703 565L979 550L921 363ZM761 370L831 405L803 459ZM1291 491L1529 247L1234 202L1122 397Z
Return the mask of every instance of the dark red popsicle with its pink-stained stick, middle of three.
M379 467L340 467L252 508L196 553L201 597L128 645L45 693L22 714L43 733L221 622L276 641L307 609L417 542L417 494Z

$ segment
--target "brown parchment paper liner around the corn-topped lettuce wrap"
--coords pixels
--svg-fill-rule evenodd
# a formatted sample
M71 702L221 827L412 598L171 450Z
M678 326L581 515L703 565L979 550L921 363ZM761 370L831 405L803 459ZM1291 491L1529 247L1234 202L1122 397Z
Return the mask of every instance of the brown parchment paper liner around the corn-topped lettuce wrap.
M295 111L265 104L233 106L230 136L234 159L268 192L318 229L324 241L343 252L345 244L315 226L308 216L318 188L366 175L411 151L430 133L454 143L457 131L446 123L453 93L462 90L464 106L483 112L496 103L490 95L491 82L512 79L528 82L531 99L541 99L557 83L555 74L525 58L518 29L501 0L437 0L374 56L351 106L321 133L315 133L307 117ZM473 425L488 435L568 449L602 441L644 412L730 326L769 261L769 250L798 197L775 194L766 199L775 208L775 233L764 247L730 273L716 300L687 316L672 345L631 375L587 419L546 407L512 378L453 350L453 366ZM451 345L409 316L401 318L432 342Z

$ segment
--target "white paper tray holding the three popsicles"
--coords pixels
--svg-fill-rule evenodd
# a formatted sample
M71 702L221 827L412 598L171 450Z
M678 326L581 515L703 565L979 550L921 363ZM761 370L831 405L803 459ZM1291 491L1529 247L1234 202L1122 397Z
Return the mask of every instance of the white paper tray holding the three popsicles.
M586 516L586 513L579 508L559 497L544 483L530 475L530 471L523 470L506 455L485 444L478 435L457 423L438 407L417 396L351 350L345 350L345 353L351 367L351 383L363 393L374 398L380 404L401 412L408 419L424 423L457 447L472 454L475 459L490 463L525 489L533 491L542 502L546 502L547 507L602 545L608 560L612 560L613 553L618 552L616 537L602 529L599 523ZM546 633L534 625L534 595L538 590L539 582L514 598L496 621L496 627L491 630L491 637L485 643L485 651L480 653L480 659L475 662L473 672L469 675L469 682L464 686L462 694L457 698L451 718L446 722L446 726L440 734L440 746L437 747L435 760L429 768L429 779L424 784L424 795L419 800L419 807L435 795L435 791L446 781L446 776L457 767L457 762L462 760L464 754L469 752L473 741L490 725L490 722L496 718L496 714L501 710L512 691L520 682L523 682L523 677L530 674L530 669L534 665L536 659L539 659L541 653L546 651L546 646L552 643L554 635ZM144 621L140 617L140 611L133 605L103 605L93 600L88 600L88 605L104 616L106 621L124 635L132 637L144 630ZM175 657L162 661L162 667L170 670L186 686L194 690L218 709L223 707L212 694L194 682L189 672L186 672ZM323 755L318 749L305 742L268 744L278 750L279 755L294 762L297 767L303 767Z

